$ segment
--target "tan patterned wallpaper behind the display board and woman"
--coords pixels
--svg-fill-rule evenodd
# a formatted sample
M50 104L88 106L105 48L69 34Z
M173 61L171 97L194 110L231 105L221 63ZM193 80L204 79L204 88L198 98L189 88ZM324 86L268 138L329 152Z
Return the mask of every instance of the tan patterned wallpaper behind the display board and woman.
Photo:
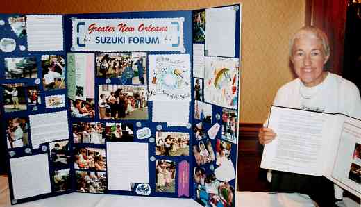
M5 0L0 13L110 13L194 10L242 3L240 122L261 123L280 85L292 80L288 42L304 24L305 0Z

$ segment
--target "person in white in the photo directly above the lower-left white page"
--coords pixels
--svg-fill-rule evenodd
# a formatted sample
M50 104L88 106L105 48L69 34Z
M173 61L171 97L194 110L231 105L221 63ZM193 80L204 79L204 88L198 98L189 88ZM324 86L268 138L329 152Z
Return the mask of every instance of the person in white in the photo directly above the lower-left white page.
M8 134L8 140L12 148L24 146L24 131L20 124L21 120L19 118L12 119L12 125L10 125L10 122L8 124L6 133Z

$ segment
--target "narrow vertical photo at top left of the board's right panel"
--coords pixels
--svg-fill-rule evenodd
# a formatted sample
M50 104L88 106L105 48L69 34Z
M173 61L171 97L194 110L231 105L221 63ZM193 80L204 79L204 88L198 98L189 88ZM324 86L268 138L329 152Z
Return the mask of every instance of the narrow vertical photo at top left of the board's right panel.
M193 42L205 42L205 10L193 13Z

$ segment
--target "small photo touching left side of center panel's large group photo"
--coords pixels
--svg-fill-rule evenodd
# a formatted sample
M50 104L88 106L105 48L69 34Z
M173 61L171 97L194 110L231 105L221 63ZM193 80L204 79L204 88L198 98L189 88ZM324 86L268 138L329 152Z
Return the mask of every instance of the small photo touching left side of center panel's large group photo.
M70 113L72 118L94 118L94 99L86 99L86 101L81 99L70 100Z

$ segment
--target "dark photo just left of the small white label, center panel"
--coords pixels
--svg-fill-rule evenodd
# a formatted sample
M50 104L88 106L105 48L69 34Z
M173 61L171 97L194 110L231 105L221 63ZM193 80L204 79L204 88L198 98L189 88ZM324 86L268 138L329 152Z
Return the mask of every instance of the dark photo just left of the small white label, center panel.
M133 142L134 127L130 123L106 123L106 140L112 142Z

